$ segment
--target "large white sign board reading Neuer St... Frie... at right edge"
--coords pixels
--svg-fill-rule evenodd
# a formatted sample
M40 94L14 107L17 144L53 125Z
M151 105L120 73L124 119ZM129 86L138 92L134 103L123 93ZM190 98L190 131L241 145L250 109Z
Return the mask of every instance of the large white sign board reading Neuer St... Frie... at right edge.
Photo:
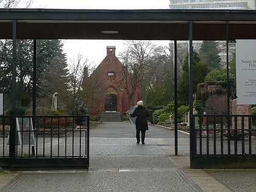
M237 104L256 104L256 40L236 40Z

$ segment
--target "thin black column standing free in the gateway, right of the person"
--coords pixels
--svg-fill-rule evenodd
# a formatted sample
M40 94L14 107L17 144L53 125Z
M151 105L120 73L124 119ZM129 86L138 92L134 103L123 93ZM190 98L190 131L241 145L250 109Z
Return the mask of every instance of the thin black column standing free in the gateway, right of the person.
M175 155L178 155L178 96L177 96L177 41L174 40L174 137L175 137Z

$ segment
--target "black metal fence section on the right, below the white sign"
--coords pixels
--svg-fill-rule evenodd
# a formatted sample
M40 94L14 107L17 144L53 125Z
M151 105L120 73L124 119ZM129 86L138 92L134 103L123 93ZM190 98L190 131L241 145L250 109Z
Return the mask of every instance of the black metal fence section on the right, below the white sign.
M255 115L193 115L192 168L256 168Z

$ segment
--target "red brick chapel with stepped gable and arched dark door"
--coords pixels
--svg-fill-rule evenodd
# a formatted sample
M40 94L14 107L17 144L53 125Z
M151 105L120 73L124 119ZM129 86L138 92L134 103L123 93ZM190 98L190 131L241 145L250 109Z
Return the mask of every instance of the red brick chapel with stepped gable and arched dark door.
M116 57L116 47L107 46L107 56L93 71L90 77L98 83L97 99L99 102L89 108L90 116L101 112L121 112L126 113L130 108L130 99L124 88L123 64ZM134 97L134 105L140 96L138 88Z

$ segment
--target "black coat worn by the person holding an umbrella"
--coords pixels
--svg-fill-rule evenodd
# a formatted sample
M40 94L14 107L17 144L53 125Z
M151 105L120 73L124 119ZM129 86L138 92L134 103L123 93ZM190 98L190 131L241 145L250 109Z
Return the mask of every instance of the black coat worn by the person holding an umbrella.
M136 117L136 130L149 130L147 119L149 117L149 112L146 107L138 106L131 116Z

